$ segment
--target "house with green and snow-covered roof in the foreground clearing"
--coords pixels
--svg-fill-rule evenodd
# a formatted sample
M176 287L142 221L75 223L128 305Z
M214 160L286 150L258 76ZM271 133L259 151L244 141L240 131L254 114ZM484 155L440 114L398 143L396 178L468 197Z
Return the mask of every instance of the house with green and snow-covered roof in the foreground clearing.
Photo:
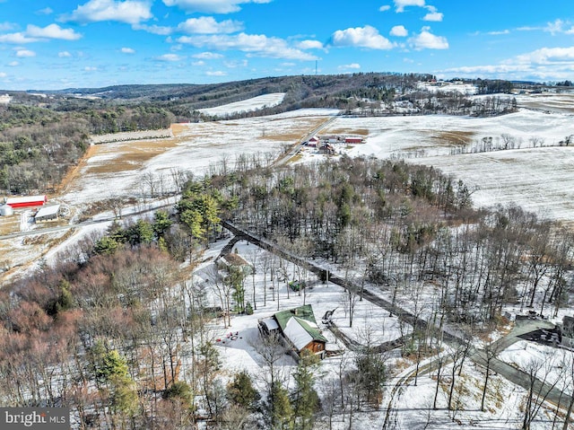
M307 350L320 358L325 358L327 340L318 329L310 304L277 312L270 318L259 320L259 332L263 336L274 333L281 335L297 355Z

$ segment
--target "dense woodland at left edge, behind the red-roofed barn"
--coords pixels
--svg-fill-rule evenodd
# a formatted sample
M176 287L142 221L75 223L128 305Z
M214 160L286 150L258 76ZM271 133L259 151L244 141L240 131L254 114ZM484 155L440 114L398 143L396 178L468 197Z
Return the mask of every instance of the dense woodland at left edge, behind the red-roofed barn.
M27 101L0 107L0 192L47 192L84 154L91 134L167 128L174 118L149 105L87 109L74 101Z

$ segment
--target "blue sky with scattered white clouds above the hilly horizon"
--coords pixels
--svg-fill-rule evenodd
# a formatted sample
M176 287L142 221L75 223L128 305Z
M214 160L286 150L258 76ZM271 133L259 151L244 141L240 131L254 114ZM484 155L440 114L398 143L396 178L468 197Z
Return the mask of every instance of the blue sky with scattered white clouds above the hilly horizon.
M572 0L0 0L0 89L421 72L574 80Z

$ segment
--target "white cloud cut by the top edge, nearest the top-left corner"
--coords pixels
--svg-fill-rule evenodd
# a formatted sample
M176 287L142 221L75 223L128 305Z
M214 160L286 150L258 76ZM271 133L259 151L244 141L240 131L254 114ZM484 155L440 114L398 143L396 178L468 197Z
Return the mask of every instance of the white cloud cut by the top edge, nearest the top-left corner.
M90 0L79 5L73 13L62 16L64 21L100 22L117 21L138 24L149 20L152 15L152 4L147 0Z

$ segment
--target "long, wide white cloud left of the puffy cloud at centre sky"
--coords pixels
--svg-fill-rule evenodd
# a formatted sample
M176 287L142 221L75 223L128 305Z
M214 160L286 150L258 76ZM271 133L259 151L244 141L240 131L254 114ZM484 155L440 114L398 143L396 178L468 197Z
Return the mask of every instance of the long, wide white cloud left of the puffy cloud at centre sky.
M179 43L186 43L196 48L208 48L214 50L237 49L247 52L250 57L287 58L298 60L314 60L317 57L292 48L284 39L267 37L265 34L237 35L199 35L194 37L182 36Z

